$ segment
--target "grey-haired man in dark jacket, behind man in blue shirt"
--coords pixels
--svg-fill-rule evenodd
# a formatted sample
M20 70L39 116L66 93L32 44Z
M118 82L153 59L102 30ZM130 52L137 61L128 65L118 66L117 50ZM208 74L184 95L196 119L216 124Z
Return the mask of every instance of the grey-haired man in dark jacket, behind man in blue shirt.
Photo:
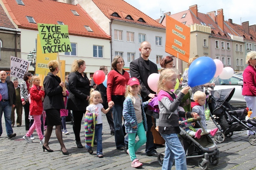
M15 107L12 108L12 115L11 115L11 120L12 120L12 127L14 127L15 124L15 109L17 113L17 127L22 125L22 110L23 110L23 105L22 101L20 98L20 87L19 87L19 82L18 79L13 79L13 84L15 88L15 93L16 93L16 105Z

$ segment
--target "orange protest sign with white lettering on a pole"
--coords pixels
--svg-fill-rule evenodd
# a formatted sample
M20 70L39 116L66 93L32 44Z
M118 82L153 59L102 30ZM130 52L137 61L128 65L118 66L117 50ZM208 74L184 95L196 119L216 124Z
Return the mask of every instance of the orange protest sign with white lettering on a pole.
M165 51L188 63L190 49L190 28L166 15Z

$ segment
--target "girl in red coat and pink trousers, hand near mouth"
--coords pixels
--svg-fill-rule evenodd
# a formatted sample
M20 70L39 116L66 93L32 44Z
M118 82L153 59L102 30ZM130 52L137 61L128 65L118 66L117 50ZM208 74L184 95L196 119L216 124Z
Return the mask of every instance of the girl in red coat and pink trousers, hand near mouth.
M30 88L30 115L34 117L34 123L30 127L27 134L23 137L28 143L32 143L33 141L30 139L30 136L33 134L34 129L37 129L37 134L40 139L40 144L44 144L44 136L41 130L41 114L43 111L43 102L42 97L44 96L44 87L40 85L40 79L38 76L34 76L32 79L33 86Z

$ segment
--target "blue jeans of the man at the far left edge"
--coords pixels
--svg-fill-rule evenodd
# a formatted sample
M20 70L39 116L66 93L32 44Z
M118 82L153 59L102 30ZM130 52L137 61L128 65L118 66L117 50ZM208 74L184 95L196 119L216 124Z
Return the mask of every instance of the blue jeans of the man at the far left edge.
M4 115L7 136L10 136L13 133L11 113L12 113L12 106L10 106L10 102L0 101L0 136L3 133L2 115Z

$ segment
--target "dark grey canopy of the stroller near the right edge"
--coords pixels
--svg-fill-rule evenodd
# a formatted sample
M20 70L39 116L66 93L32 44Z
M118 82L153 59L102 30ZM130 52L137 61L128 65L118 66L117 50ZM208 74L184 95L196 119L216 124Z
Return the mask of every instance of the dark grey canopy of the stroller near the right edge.
M223 105L224 102L230 101L231 97L234 94L234 91L235 88L211 91L213 113L223 111L223 108L221 108L221 106ZM221 109L218 110L219 108Z

